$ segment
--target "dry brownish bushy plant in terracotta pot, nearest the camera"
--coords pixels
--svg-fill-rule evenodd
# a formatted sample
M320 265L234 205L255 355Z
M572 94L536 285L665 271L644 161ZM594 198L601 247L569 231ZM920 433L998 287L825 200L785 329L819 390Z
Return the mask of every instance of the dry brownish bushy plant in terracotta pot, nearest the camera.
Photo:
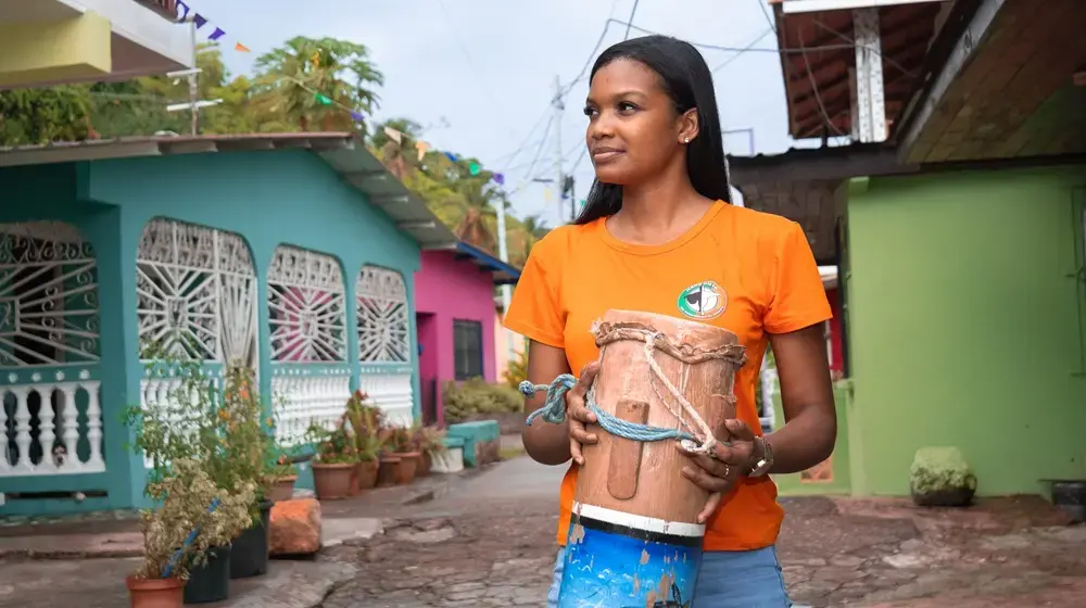
M255 486L225 492L203 463L182 458L146 492L160 506L141 512L143 557L125 581L132 608L226 599L230 570L222 548L228 552L248 523Z

